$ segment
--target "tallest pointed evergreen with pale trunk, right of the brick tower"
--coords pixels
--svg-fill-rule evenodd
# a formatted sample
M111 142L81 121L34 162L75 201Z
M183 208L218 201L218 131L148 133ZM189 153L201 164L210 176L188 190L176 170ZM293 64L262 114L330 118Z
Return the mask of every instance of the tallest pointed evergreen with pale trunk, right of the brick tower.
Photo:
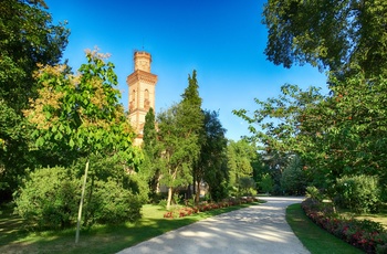
M198 88L194 71L192 76L188 76L182 100L158 115L158 138L163 150L159 165L161 180L168 187L168 209L175 189L192 182L194 166L200 155L199 137L203 129L203 113Z

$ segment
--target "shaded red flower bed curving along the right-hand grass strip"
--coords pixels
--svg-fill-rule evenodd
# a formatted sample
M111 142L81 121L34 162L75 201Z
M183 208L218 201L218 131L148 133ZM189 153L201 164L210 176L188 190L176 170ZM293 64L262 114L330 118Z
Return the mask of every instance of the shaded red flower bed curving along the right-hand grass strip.
M366 253L387 253L387 231L380 223L337 218L313 199L302 203L305 214L318 226Z

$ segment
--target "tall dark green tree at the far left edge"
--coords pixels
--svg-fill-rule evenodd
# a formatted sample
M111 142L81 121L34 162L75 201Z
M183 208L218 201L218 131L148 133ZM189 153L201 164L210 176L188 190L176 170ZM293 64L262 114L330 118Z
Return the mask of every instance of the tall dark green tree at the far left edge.
M62 23L53 24L43 8L44 1L3 0L0 4L1 199L11 197L25 168L45 157L29 150L30 128L22 109L38 96L32 75L36 64L59 63L70 32Z

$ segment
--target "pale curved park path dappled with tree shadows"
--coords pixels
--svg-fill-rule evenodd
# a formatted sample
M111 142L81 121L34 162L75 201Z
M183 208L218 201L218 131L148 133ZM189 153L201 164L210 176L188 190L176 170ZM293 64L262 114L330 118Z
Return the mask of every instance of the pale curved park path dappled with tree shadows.
M119 254L145 253L310 253L285 220L285 209L302 198L260 198L268 202L223 213L125 248Z

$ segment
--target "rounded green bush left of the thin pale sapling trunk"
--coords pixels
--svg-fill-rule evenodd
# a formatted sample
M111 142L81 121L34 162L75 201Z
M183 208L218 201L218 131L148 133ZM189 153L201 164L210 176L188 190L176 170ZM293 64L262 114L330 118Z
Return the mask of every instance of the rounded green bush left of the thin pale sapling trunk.
M61 167L32 172L15 193L15 211L27 225L64 229L76 223L81 182Z

